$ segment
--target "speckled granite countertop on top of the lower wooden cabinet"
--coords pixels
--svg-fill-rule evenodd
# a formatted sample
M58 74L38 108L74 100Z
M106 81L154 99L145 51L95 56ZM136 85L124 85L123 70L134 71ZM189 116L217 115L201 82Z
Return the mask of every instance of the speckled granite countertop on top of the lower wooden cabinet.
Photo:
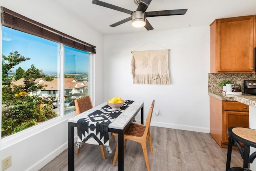
M230 95L220 92L208 92L208 95L225 101L238 101L246 105L256 107L256 95L242 93L242 95Z

